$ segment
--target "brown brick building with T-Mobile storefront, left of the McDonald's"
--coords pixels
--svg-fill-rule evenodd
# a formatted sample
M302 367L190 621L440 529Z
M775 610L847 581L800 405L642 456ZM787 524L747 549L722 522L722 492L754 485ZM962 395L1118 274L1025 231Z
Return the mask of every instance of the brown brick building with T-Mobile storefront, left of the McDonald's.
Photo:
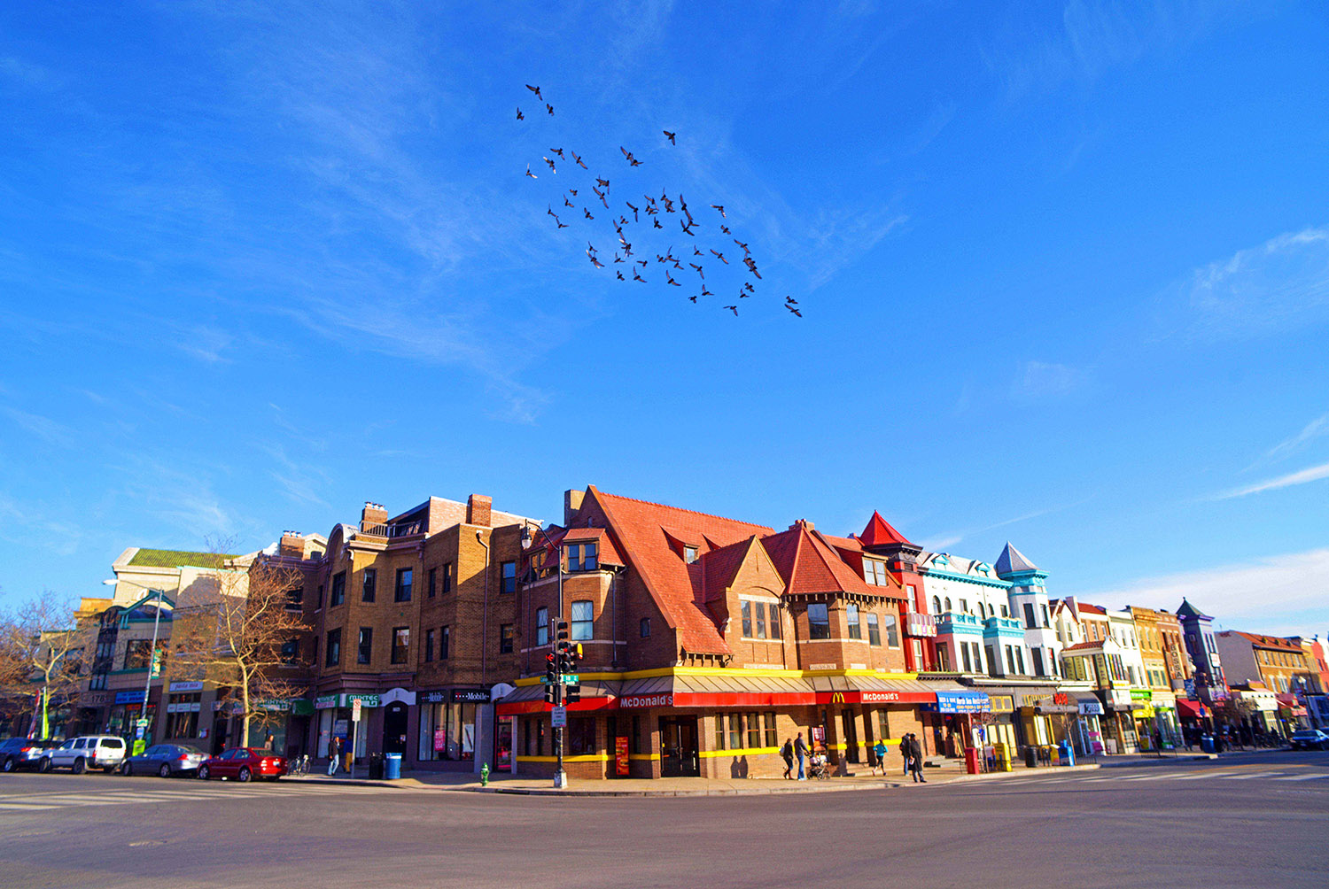
M294 561L311 629L304 749L326 757L334 735L346 751L354 734L358 757L509 767L510 740L505 726L496 734L489 702L518 672L517 563L532 525L480 494L464 504L431 497L399 516L365 504L358 525L331 530L320 558ZM284 542L294 555L296 541ZM363 715L352 732L356 699Z

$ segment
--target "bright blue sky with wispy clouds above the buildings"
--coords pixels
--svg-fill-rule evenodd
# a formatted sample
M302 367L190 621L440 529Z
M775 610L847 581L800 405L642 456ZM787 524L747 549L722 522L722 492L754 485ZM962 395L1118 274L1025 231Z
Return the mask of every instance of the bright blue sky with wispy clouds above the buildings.
M7 599L591 482L1329 627L1322 4L468 5L0 9Z

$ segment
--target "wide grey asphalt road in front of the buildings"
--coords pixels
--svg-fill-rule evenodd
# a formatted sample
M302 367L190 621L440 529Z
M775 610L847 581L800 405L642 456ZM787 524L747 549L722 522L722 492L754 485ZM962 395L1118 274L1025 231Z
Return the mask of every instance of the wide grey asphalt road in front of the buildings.
M1329 753L695 799L0 776L0 886L1324 886Z

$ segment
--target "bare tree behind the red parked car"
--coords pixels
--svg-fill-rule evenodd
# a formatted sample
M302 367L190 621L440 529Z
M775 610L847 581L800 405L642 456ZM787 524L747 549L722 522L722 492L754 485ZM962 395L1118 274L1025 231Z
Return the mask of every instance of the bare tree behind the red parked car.
M241 745L249 747L254 723L267 724L278 702L306 691L306 664L295 651L308 627L287 609L303 577L262 554L231 559L215 577L213 590L181 593L166 675L230 687L229 703L243 718Z

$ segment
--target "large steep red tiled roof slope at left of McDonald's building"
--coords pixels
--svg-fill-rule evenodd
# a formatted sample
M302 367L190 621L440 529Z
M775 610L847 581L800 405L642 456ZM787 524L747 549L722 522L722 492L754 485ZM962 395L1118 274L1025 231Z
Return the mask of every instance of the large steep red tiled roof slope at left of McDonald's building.
M730 654L715 621L698 603L690 566L670 546L664 529L690 545L699 543L699 554L710 551L715 545L726 547L754 536L769 534L772 529L606 494L594 485L586 488L586 497L594 497L605 512L623 553L655 598L666 622L678 631L679 644L690 652Z

